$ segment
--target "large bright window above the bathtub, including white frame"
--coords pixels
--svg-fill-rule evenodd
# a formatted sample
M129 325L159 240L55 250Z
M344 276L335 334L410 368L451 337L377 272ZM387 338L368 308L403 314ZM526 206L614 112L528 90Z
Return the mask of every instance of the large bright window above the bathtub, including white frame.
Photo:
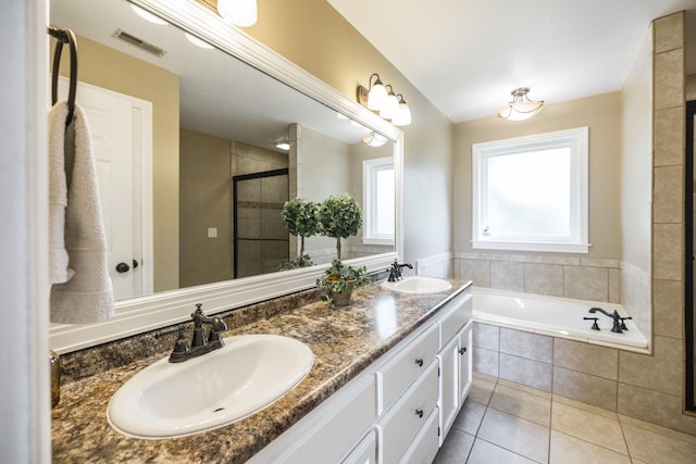
M587 253L587 127L472 146L472 243Z

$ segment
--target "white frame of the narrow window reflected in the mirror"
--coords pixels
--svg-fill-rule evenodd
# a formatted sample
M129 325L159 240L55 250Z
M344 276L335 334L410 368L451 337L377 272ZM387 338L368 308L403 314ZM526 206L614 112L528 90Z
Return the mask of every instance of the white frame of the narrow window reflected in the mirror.
M365 244L387 244L394 246L396 237L396 224L391 235L377 234L376 228L376 173L378 171L391 170L396 176L396 166L393 156L375 158L362 161L362 199L363 199L363 224L362 242ZM395 177L396 187L396 177ZM394 200L396 202L396 191Z

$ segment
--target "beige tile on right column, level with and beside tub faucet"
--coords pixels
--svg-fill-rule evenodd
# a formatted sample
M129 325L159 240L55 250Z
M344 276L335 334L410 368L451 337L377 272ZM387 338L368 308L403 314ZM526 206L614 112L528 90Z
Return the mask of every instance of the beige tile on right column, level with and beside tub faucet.
M655 335L682 338L684 336L684 292L681 281L652 283L652 327Z

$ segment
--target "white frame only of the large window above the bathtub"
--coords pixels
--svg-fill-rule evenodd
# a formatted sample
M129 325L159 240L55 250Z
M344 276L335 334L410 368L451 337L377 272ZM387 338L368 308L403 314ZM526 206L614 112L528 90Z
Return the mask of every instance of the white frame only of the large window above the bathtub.
M472 145L472 247L483 250L517 250L588 253L589 129L577 127ZM489 156L570 148L570 234L566 237L484 235L487 222L487 171Z

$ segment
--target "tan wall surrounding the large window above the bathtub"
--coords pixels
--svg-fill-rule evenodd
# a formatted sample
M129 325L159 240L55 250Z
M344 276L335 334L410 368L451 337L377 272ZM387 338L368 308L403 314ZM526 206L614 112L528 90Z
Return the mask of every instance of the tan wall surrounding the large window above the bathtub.
M471 251L471 146L472 143L589 127L589 242L583 256L621 258L621 96L619 92L567 103L547 104L522 123L497 116L455 125L455 252ZM564 254L563 254L564 255Z

